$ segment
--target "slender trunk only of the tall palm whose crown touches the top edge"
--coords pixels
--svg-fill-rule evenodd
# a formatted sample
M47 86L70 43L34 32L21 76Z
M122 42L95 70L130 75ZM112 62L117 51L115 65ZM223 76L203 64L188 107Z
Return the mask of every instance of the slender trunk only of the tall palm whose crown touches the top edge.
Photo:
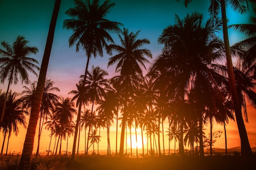
M85 85L86 81L86 76L88 72L88 65L89 65L90 57L87 57L87 63L86 63L86 68L85 68L85 78L83 79L83 85L82 88ZM71 155L71 160L75 160L75 152L76 152L76 138L77 138L77 133L78 133L78 126L81 118L81 108L82 108L82 102L79 102L79 107L78 107L78 113L77 113L77 120L76 120L76 127L75 127L75 134L74 134L74 142L73 142L73 148L72 148L72 155ZM90 133L90 131L89 131ZM88 142L87 142L87 148L88 148Z

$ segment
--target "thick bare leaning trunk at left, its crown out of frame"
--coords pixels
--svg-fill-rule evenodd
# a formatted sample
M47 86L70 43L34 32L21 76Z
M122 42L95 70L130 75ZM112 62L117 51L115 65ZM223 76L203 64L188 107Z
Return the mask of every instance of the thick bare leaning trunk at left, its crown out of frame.
M58 11L60 9L60 6L61 6L61 0L55 0L52 19L49 26L48 36L47 36L46 45L45 45L45 52L43 55L43 60L42 60L40 73L38 77L38 83L35 91L35 98L33 100L33 105L31 108L29 124L27 127L27 134L25 137L25 142L24 142L18 170L29 170L31 168L31 155L33 151L34 137L36 133L36 124L37 124L38 115L40 111L40 103L43 96L45 77L46 77L49 58L52 50L52 42L54 38L54 31L55 31L55 26L56 26L56 21L57 21Z

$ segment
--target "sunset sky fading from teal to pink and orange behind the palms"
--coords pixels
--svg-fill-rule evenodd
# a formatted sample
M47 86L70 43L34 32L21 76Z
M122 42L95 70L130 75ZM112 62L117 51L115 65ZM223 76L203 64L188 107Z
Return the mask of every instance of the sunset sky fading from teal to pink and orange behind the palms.
M31 55L30 57L37 59L40 63L43 57L54 2L54 0L0 0L0 41L7 41L12 44L18 35L24 36L25 39L29 40L29 46L38 47L39 52L36 55ZM204 14L205 20L208 19L208 0L193 0L193 2L189 4L188 8L184 7L184 0L180 0L180 2L176 2L176 0L111 0L111 2L115 2L116 5L108 14L107 19L124 24L124 27L128 28L130 32L137 32L140 30L141 32L139 33L138 38L147 38L151 43L143 47L148 48L153 53L153 59L150 61L153 61L161 53L163 46L157 43L157 38L166 26L173 24L175 14L179 15L180 18L183 18L187 13L198 11ZM72 34L72 31L67 31L62 27L63 20L68 18L67 15L65 15L65 11L70 7L74 7L73 0L62 0L56 24L47 78L54 81L54 86L61 90L61 92L55 94L72 98L73 96L68 95L68 92L76 89L76 83L79 81L79 76L84 74L86 56L83 50L76 52L75 47L69 47L68 38ZM228 25L248 23L250 15L252 15L252 12L240 15L228 9ZM231 45L246 38L238 33L233 33L231 30L229 30L229 36ZM117 35L113 35L113 38L116 44L120 44ZM0 48L3 49L2 46L0 46ZM104 54L103 58L97 57L97 59L92 59L89 64L89 69L92 65L99 65L102 69L108 71L109 76L107 78L113 77L115 75L116 65L112 65L107 68L109 57L110 56L107 54ZM144 70L144 73L146 73L146 70ZM31 82L37 81L37 78L36 76L31 75L30 80ZM6 91L7 81L4 84L0 84L0 89L2 89L2 91ZM23 90L20 82L18 85L11 85L10 89L12 92L22 92ZM256 111L249 105L247 109L249 124L245 124L247 127L249 142L251 147L256 147ZM165 124L166 131L168 128L167 126L168 125ZM110 137L112 139L112 141L110 141L111 150L115 150L115 128L116 124L114 123L110 129ZM205 128L209 129L207 126ZM22 127L19 129L20 133L18 134L18 137L15 135L11 136L8 152L12 153L13 151L22 151L26 130ZM217 140L214 147L225 148L224 129L222 126L213 127L213 131L218 130L223 131L223 134L221 138ZM121 129L119 129L119 131L121 131ZM138 129L138 131L138 134L141 135L140 129ZM205 132L207 134L209 131L206 130ZM132 133L135 134L134 129ZM37 135L38 131L36 131L35 136L34 152L37 147ZM40 142L40 152L48 149L48 135L49 131L43 129ZM101 130L101 136L99 148L101 150L105 150L107 148L106 130ZM166 133L164 137L166 139L165 149L167 149L168 140ZM236 122L229 122L227 125L227 137L228 148L240 146ZM139 136L139 138L141 137ZM3 137L1 135L0 146L2 146L2 139ZM120 134L118 141L120 141ZM72 143L73 137L69 139L68 150L72 150ZM146 147L146 136L144 136L144 144ZM52 142L51 146L53 145L54 143ZM65 146L66 142L63 143L62 150L65 150ZM6 147L6 144L4 147ZM128 146L128 148L130 148L130 146ZM171 149L173 148L174 141L171 142ZM81 132L79 150L84 150L84 131Z

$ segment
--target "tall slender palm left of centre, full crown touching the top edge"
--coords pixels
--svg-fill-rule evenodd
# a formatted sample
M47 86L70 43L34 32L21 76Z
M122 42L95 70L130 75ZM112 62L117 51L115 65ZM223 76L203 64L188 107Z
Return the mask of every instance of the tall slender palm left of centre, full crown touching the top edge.
M110 9L115 6L115 3L110 3L109 0L104 1L103 4L99 4L99 0L92 0L92 2L90 0L86 0L85 2L83 0L74 0L74 3L76 6L65 12L71 18L63 21L63 28L73 30L73 34L68 40L70 46L76 44L77 52L79 48L85 50L87 63L84 75L87 77L90 58L92 55L94 57L97 57L97 55L103 57L103 48L106 49L108 54L111 53L107 42L113 43L114 41L108 32L118 33L120 30L119 26L122 26L122 24L106 19L106 15L110 12ZM82 87L84 85L85 79ZM81 104L79 104L79 107L81 107ZM76 121L72 160L74 160L80 117L81 113L79 112Z

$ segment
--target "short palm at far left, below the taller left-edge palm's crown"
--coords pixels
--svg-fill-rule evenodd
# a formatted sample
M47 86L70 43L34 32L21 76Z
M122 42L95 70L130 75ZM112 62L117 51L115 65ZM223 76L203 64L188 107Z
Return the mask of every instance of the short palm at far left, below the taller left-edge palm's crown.
M16 99L18 94L16 92L11 93L9 92L7 102L6 102L6 109L5 114L2 122L2 126L0 128L3 129L4 133L4 139L2 143L2 150L0 155L3 153L4 148L4 141L7 132L8 135L8 141L7 141L7 148L6 148L6 155L8 151L8 144L9 144L9 138L11 137L11 132L17 136L19 133L18 124L22 125L23 127L27 128L26 126L26 118L25 114L27 114L27 111L22 110L22 100ZM2 104L2 103L1 103Z

